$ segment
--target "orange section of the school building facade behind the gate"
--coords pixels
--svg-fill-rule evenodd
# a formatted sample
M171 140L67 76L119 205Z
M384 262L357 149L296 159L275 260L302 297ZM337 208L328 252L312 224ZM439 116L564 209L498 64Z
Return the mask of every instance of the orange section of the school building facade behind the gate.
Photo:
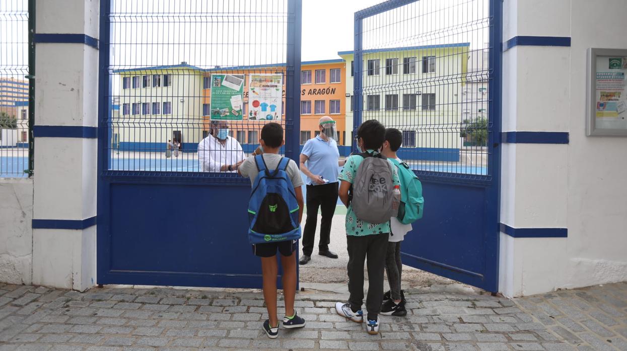
M319 134L319 120L330 116L337 123L339 145L343 145L345 133L346 63L344 59L305 61L301 63L300 86L300 144ZM233 74L243 76L243 120L228 121L230 135L242 145L257 145L261 128L266 121L248 118L249 74L283 74L285 66L245 66L241 68L208 69L203 79L203 137L209 133L211 121L211 74ZM283 101L280 122L285 126L285 79L283 79Z

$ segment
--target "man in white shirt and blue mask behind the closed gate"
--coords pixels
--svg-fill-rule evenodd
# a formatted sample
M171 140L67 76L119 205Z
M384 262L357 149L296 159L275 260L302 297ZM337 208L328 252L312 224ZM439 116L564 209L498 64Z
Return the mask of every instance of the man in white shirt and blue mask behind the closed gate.
M209 135L198 143L201 172L235 172L246 160L240 143L229 136L227 121L211 121Z

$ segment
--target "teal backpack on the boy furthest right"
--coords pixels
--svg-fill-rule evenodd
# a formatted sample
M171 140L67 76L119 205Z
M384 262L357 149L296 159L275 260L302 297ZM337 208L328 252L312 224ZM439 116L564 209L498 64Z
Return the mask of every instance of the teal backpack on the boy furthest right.
M396 218L403 224L413 223L423 218L423 185L407 163L401 163L393 158L389 160L398 168L398 176L401 179L401 205Z

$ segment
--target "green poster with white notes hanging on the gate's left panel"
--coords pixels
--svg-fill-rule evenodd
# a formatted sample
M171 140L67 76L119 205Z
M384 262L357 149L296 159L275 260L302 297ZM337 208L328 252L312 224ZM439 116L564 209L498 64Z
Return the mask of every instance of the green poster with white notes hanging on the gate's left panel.
M211 120L243 120L243 74L211 74Z

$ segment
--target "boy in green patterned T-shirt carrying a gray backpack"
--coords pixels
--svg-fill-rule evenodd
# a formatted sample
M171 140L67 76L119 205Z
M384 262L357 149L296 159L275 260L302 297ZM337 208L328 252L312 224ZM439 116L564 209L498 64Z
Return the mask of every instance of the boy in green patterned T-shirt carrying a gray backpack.
M335 311L354 322L363 322L361 308L367 258L366 328L369 334L379 333L389 221L398 213L398 203L395 205L394 202L394 188L400 186L398 171L379 152L385 133L385 127L379 121L362 123L357 130L357 148L361 153L347 158L339 176L339 196L347 206L345 228L350 297L348 303L335 303Z

